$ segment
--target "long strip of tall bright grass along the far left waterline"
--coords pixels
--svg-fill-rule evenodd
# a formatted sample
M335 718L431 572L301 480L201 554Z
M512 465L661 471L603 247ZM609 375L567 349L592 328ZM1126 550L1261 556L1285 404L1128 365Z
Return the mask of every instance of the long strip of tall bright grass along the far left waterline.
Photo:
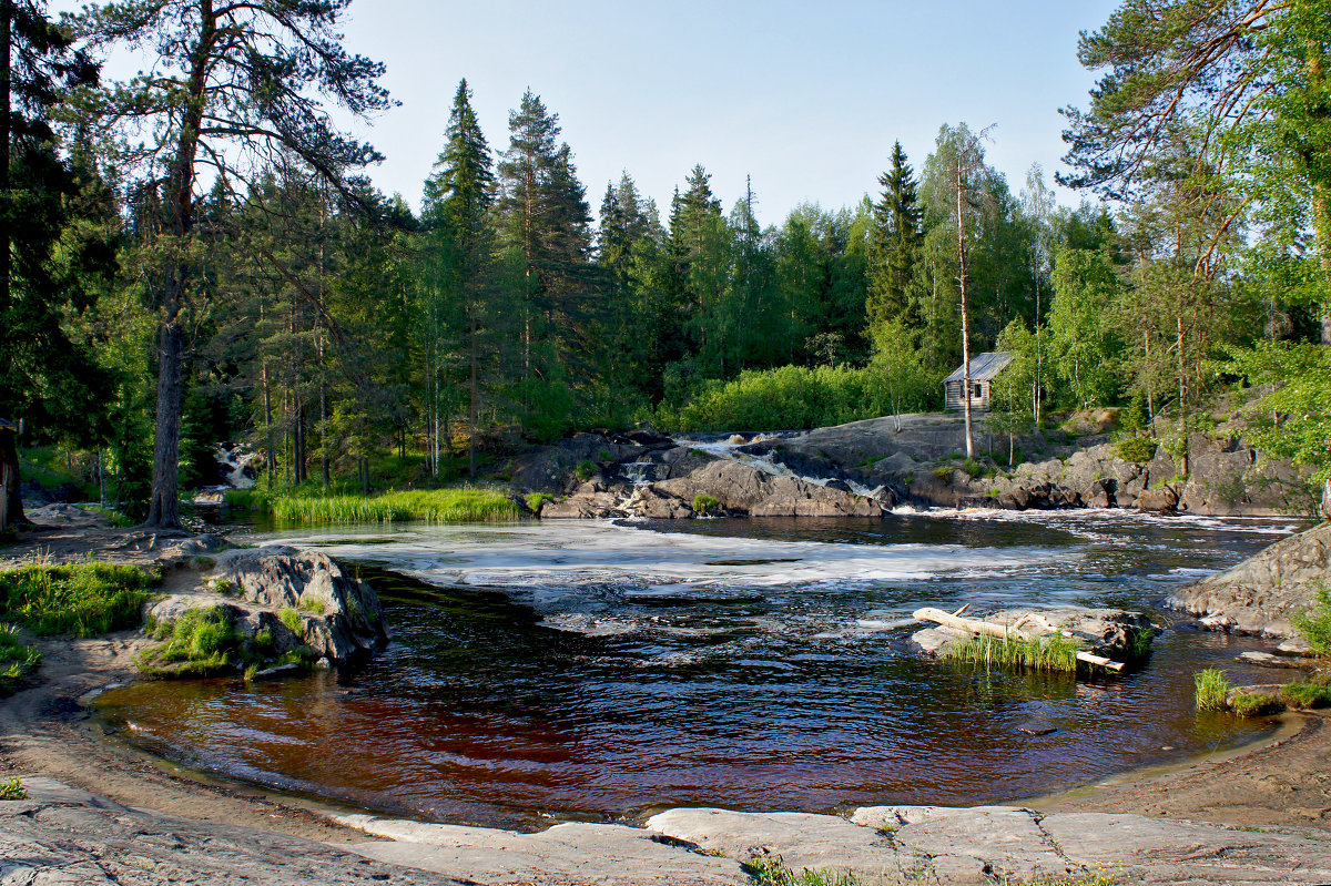
M285 523L502 523L518 506L494 490L417 490L383 495L276 495L273 516Z

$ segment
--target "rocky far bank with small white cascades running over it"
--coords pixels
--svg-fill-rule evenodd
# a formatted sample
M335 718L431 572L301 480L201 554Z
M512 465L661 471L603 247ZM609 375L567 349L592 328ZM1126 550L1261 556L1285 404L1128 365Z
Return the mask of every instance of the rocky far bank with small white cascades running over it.
M869 419L800 434L740 434L707 443L651 431L579 434L511 464L511 482L544 494L542 517L876 517L916 508L1133 508L1222 516L1306 515L1306 472L1274 462L1234 431L1194 434L1187 459L1146 442L1110 443L1101 426L1010 440L981 426L988 460L966 462L950 415ZM1145 451L1143 451L1145 450Z

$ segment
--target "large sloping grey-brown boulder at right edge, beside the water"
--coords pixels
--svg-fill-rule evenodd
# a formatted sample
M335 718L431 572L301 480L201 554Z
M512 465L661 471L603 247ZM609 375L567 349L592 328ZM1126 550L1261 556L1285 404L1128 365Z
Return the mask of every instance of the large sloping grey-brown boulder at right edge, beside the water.
M1331 588L1331 523L1276 541L1243 563L1179 588L1166 604L1213 628L1274 637L1296 635L1291 619Z

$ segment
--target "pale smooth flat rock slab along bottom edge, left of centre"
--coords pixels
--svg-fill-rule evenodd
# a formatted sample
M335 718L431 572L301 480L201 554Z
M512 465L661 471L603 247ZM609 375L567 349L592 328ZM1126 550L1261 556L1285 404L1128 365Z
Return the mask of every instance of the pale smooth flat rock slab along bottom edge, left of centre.
M351 849L394 865L487 885L540 886L747 886L732 858L660 842L640 827L570 822L536 834L430 825L373 815L339 822L397 842ZM840 819L837 819L840 821Z

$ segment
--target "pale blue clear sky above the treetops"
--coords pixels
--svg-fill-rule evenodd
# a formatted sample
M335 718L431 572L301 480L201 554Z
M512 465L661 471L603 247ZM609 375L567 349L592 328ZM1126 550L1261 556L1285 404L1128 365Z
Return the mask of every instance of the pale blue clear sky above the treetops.
M383 82L402 105L357 129L387 157L375 184L413 206L466 77L496 149L523 90L542 96L594 212L627 169L664 213L700 162L727 210L751 174L759 220L779 223L801 201L837 208L876 193L896 138L918 170L944 122L997 124L989 161L1014 192L1032 162L1051 180L1058 108L1085 105L1093 82L1077 33L1115 5L355 0L345 32L349 49L387 64Z

